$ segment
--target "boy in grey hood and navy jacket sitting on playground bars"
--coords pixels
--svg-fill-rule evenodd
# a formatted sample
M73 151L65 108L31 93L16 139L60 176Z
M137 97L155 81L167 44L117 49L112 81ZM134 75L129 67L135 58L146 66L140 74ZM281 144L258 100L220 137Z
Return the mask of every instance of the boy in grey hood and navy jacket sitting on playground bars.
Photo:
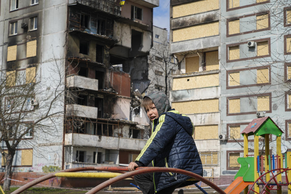
M203 176L201 159L192 137L194 125L191 119L171 109L167 96L160 91L145 96L142 106L153 122L152 134L135 162L130 162L128 170L133 171L139 166L170 167ZM144 194L169 194L178 187L198 182L187 181L190 178L171 172L134 176L135 182Z

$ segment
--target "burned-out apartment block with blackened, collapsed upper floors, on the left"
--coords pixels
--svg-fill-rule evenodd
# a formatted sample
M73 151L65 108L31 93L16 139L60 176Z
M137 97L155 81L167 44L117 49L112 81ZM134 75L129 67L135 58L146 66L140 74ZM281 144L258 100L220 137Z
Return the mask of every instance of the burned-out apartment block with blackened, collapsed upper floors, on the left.
M153 8L159 1L126 0L123 6L111 0L0 3L1 68L18 62L19 69L33 67L42 77L57 64L66 90L60 102L64 118L56 118L61 123L58 137L47 140L53 144L42 144L47 150L43 153L36 145L20 144L15 177L46 172L43 166L66 169L133 161L150 128L144 110L138 114L134 108L149 84L147 55L153 44ZM30 154L22 152L26 149Z

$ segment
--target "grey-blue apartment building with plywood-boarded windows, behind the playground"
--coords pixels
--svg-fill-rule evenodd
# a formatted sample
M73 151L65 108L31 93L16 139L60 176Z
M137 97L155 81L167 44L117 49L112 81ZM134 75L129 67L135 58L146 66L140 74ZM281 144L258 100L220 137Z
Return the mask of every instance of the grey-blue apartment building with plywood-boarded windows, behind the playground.
M217 185L234 180L240 133L257 116L285 132L283 153L291 148L290 13L276 0L171 0L171 53L181 62L172 107L192 119L203 175Z

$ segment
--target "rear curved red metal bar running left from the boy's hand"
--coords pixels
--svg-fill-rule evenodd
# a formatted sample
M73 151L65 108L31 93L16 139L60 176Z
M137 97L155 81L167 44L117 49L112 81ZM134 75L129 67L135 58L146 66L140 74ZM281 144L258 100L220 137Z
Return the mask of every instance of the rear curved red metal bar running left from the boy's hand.
M88 167L77 167L77 168L65 169L65 170L61 170L61 171L58 171L58 172L80 172L80 171L97 171L97 170L107 171L107 172L120 172L120 173L123 173L124 171L128 171L127 167L124 167L124 166L117 166L117 167L111 167L111 166L103 166L103 167L88 166ZM58 172L52 172L52 173L50 173L48 175L39 177L38 179L35 179L35 180L23 185L22 187L19 187L18 189L13 191L11 194L19 194L22 191L25 191L26 189L39 184L40 182L43 182L43 181L46 181L48 179L51 179L51 178L55 177L55 174L58 173Z

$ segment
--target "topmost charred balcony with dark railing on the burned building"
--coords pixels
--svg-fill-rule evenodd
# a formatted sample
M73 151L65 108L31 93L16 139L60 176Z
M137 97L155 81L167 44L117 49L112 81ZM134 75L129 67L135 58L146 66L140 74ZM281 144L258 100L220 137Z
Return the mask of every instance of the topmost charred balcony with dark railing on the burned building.
M85 5L87 7L106 12L115 16L121 15L121 7L117 2L110 0L69 0L69 5Z

